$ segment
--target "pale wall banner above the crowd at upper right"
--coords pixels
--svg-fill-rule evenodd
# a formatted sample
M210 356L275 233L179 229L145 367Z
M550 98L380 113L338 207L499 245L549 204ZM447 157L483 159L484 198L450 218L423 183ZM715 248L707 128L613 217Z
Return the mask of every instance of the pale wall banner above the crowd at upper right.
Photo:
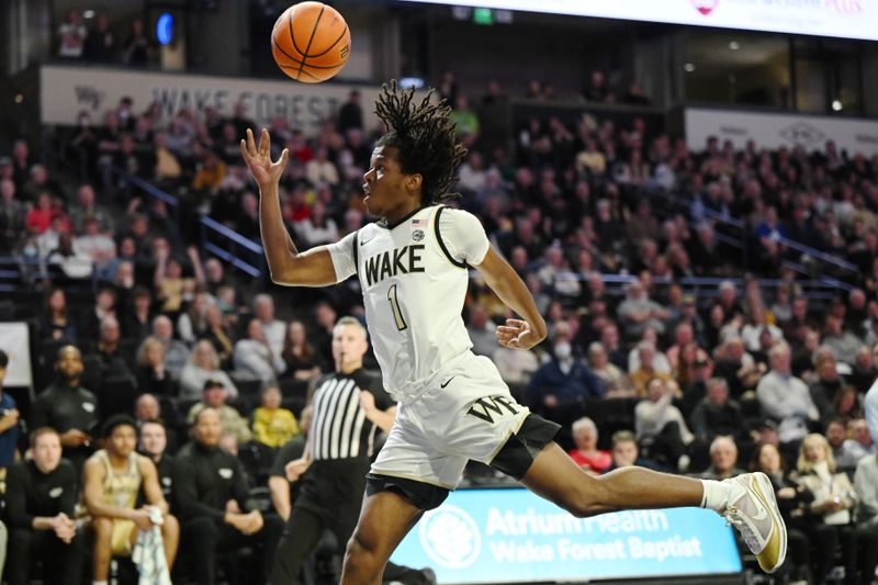
M878 122L851 117L765 114L735 110L686 109L686 146L701 151L709 136L720 144L732 140L743 148L753 140L757 148L777 149L801 146L806 151L825 150L833 140L838 151L849 156L878 154Z

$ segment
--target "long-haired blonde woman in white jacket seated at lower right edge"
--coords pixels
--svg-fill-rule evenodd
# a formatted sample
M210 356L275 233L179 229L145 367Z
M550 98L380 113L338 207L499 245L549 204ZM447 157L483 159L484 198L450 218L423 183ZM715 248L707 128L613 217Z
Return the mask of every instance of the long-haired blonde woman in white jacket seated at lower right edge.
M829 573L832 554L840 543L847 578L868 583L875 575L878 538L871 530L852 525L857 494L847 474L836 472L830 445L822 435L811 434L802 441L798 470L801 486L811 499L808 511L812 519L812 542L819 542L818 548L823 551L818 553L821 558L814 574L818 583ZM860 550L866 554L859 554Z

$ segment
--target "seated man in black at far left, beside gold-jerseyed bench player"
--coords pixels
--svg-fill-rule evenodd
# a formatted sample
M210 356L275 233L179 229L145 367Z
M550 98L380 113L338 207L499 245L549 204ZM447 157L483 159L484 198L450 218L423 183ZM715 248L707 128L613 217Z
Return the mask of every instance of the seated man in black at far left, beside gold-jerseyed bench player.
M7 476L9 585L30 585L34 562L43 562L44 583L79 583L85 537L77 532L77 472L61 459L61 441L48 427L31 434L31 459L16 462ZM46 560L52 562L45 562Z

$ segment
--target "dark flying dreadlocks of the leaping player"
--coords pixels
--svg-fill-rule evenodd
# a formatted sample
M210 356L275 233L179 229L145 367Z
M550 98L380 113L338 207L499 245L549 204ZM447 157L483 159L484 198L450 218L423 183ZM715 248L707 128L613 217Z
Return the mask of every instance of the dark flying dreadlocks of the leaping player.
M430 103L432 89L420 103L415 102L415 90L401 90L395 79L390 87L381 86L381 90L375 113L387 125L387 134L375 146L396 147L402 171L420 173L423 205L460 196L449 189L458 180L458 167L466 149L454 139L451 108L444 100Z

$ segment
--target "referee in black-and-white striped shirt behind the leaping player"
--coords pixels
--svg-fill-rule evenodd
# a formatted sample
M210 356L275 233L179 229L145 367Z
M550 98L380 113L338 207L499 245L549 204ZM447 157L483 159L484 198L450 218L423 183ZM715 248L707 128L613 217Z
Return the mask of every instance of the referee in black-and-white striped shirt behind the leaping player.
M336 373L317 381L308 401L313 419L305 452L286 465L288 480L300 480L301 486L274 555L272 584L301 584L302 565L324 530L331 530L344 550L357 526L375 430L389 431L396 416L380 375L363 370L365 335L353 317L342 317L333 329Z

